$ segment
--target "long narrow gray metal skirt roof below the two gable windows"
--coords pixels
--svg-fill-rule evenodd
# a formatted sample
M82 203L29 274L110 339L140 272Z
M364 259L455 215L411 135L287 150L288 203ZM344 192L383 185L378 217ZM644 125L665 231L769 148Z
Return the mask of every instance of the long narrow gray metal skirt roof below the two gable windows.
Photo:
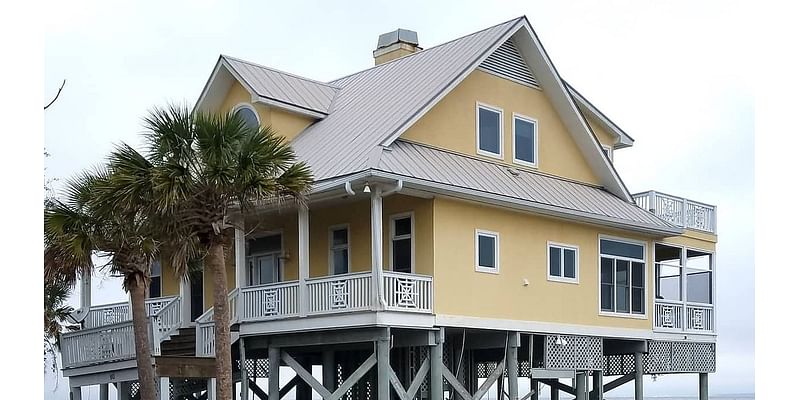
M486 161L430 146L395 141L375 169L429 182L575 210L624 223L676 227L601 187ZM511 171L514 171L512 173Z

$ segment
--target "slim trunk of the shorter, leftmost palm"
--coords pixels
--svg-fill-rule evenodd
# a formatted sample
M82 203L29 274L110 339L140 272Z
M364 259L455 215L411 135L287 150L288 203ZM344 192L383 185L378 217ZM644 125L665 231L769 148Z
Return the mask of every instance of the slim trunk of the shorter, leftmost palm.
M133 342L136 349L136 369L139 373L139 393L142 400L156 400L156 378L153 363L150 361L149 327L147 310L144 306L146 287L140 279L131 279L128 288L131 294L133 313Z

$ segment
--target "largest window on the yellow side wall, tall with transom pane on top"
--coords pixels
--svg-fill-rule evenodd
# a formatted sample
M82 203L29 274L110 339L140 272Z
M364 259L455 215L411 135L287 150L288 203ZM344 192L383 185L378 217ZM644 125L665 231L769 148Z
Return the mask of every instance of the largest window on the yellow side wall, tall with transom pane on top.
M644 244L600 239L600 311L645 314Z

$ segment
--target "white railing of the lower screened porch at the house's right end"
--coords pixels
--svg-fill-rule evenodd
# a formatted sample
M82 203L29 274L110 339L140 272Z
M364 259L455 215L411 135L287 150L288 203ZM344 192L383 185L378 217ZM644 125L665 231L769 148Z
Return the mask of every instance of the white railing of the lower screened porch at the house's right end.
M657 300L653 328L662 332L714 332L714 306Z

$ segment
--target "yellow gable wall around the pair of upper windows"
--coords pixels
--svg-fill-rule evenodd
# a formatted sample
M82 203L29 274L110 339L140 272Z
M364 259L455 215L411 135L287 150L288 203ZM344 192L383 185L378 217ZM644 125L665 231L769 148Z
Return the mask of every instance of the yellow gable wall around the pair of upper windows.
M477 154L476 102L503 110L502 161ZM530 168L512 163L514 113L538 121L539 171L591 184L600 183L541 90L480 70L473 71L401 138L492 162L504 162L517 168Z

